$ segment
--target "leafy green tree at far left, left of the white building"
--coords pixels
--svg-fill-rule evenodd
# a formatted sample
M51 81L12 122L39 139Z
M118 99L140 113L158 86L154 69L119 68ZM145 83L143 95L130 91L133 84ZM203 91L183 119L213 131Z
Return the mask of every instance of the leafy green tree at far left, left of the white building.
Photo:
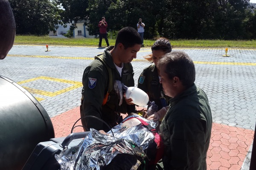
M59 9L51 0L9 0L17 34L46 35L55 31Z

